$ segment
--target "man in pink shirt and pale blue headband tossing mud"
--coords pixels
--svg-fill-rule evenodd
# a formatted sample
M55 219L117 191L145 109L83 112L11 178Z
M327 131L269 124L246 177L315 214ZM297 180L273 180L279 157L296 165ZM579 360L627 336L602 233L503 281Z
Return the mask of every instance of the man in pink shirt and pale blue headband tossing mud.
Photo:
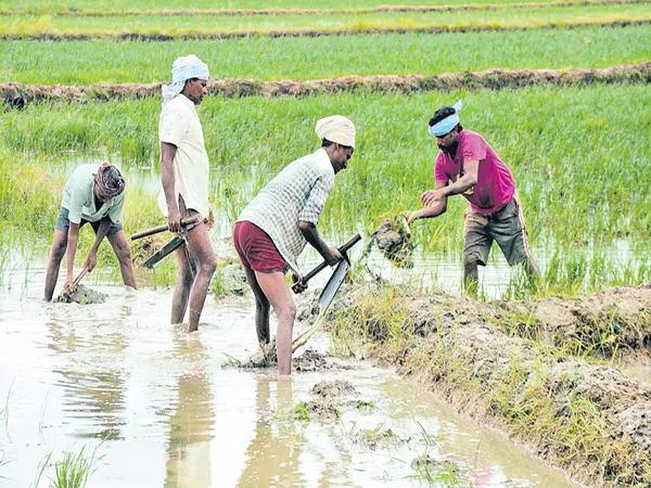
M482 136L463 130L459 123L461 102L438 108L430 119L429 132L441 150L434 165L435 190L421 195L424 208L407 213L407 222L438 217L447 198L462 195L465 209L463 230L463 280L476 293L477 266L486 266L493 241L510 266L523 264L529 275L537 275L532 258L522 206L511 171Z

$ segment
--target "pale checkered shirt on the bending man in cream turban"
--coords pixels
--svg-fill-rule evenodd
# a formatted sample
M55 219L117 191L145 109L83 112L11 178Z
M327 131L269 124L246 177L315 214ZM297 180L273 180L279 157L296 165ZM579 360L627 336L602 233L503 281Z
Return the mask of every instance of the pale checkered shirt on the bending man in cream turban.
M334 188L334 170L322 149L288 165L244 208L238 221L264 230L292 269L307 244L298 228L305 220L315 226Z

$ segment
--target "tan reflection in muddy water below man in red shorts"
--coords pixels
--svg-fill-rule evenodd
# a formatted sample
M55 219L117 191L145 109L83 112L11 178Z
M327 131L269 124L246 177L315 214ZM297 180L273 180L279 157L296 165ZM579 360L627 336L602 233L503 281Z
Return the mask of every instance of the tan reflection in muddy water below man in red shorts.
M272 393L276 394L273 398ZM246 449L247 463L240 476L239 487L305 485L298 464L301 446L304 444L301 425L275 421L269 415L270 409L289 412L292 406L291 378L258 378L255 438Z

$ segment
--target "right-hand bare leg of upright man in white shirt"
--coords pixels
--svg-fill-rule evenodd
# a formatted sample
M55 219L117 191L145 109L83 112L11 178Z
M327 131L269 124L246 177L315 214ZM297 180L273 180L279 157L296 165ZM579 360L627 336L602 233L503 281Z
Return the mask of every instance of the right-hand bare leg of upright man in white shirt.
M199 329L199 319L208 294L210 279L217 269L217 259L210 244L208 229L204 223L197 224L190 231L188 239L188 251L193 260L196 261L196 277L190 291L190 324L189 332ZM182 252L182 248L180 249Z

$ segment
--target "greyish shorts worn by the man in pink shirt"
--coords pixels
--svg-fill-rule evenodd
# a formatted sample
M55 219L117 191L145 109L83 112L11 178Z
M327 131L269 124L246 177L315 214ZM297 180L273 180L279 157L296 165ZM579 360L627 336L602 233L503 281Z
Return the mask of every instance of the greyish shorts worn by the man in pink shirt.
M516 196L494 214L477 214L468 207L463 217L464 265L486 266L493 241L497 242L510 266L531 259L522 206Z

